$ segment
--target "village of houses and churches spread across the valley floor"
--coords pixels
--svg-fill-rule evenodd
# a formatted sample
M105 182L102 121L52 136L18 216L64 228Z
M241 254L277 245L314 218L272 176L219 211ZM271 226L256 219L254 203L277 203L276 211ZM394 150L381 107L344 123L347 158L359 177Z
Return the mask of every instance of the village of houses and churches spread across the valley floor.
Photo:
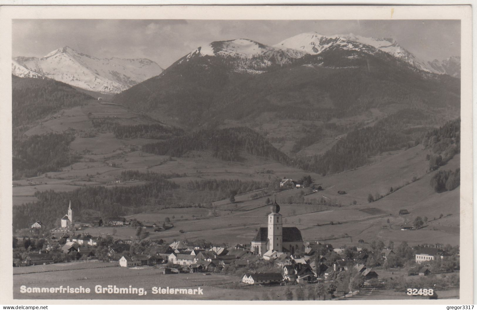
M280 186L297 184L284 179ZM233 278L236 289L286 286L287 300L304 299L306 287L308 299L314 300L360 296L370 289L404 290L416 281L434 290L458 285L458 275L454 274L459 269L458 246L410 247L406 242L385 245L378 240L359 240L355 245L334 248L329 243L303 240L300 229L283 226L282 218L280 205L274 201L267 227L260 227L249 244L214 245L203 239L114 239L111 235L93 236L82 229L129 226L135 227L139 236L146 225L124 217L75 218L70 201L61 227L45 231L37 221L31 225L31 238L23 238L23 242L14 239L14 266L103 262L124 269L160 269L165 275L225 274ZM172 227L164 223L162 227L148 228L160 231ZM48 237L40 237L45 235ZM429 298L437 296L437 292L425 294Z

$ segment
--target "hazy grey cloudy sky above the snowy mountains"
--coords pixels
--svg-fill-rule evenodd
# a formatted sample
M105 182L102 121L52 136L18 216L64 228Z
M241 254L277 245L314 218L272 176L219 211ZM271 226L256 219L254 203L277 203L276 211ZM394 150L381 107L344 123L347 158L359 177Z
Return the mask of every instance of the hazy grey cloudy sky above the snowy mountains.
M274 45L313 31L393 38L424 61L460 55L460 20L14 20L12 55L43 57L69 46L98 58L148 58L166 69L213 41L250 39Z

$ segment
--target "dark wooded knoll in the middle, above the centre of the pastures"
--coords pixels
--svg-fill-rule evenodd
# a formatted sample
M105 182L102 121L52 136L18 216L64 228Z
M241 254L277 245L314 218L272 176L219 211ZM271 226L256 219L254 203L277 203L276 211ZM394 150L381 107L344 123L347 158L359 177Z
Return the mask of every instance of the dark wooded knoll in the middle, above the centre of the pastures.
M181 157L189 151L212 151L214 157L240 161L240 152L262 156L283 164L290 158L277 150L264 137L246 127L202 129L170 140L147 144L143 152Z

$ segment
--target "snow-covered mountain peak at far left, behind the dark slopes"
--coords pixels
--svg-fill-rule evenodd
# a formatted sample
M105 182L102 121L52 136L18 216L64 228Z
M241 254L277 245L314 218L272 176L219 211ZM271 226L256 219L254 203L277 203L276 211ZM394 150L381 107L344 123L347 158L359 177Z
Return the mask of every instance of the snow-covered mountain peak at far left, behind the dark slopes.
M122 92L164 71L149 59L100 59L76 52L68 46L42 58L16 57L13 61L39 75L103 93ZM12 72L15 74L15 71Z

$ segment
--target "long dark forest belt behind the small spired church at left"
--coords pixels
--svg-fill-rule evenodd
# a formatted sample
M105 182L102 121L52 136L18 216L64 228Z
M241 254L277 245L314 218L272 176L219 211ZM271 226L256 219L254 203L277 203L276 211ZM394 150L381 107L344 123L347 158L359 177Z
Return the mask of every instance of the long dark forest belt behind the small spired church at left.
M31 202L13 208L13 229L30 227L32 222L40 220L47 227L59 225L68 202L71 200L74 212L95 213L101 217L117 217L143 212L146 209L170 207L190 207L209 205L212 201L225 199L231 194L266 188L268 182L240 180L201 180L191 181L179 186L167 178L175 175L124 171L121 178L135 178L147 181L139 186L87 186L71 192L53 190L36 192L37 202ZM275 180L274 180L275 181Z

